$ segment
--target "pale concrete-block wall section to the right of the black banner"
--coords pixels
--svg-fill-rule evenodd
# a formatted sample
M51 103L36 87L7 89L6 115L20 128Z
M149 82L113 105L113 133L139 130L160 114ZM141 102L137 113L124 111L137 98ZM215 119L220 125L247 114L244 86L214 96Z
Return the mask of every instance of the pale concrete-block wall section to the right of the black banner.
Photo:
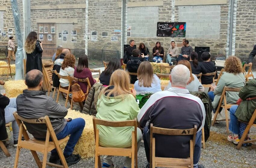
M219 38L220 5L179 6L179 22L186 22L186 38Z

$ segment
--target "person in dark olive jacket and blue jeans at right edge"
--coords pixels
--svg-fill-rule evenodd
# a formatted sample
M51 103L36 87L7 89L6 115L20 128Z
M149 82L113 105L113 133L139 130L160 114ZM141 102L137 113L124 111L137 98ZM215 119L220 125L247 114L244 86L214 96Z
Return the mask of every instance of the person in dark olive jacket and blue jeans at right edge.
M256 109L256 99L246 100L247 98L256 97L256 79L251 79L246 82L246 85L239 91L239 98L243 101L239 106L232 106L229 110L230 112L230 123L229 130L232 131L233 135L228 136L228 141L234 144L239 143L239 134L242 137L242 132L247 126L245 123L240 123L238 119L249 122L254 110ZM256 120L255 120L256 122ZM242 131L242 132L241 132ZM245 140L250 140L249 133L247 134ZM247 145L251 145L248 143Z

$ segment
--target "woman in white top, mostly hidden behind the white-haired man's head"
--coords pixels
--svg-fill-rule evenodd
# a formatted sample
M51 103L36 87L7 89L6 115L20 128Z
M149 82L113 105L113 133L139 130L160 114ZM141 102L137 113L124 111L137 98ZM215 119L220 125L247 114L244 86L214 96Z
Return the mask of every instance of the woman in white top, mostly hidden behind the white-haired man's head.
M179 64L185 65L187 68L189 68L190 71L190 77L191 80L186 86L186 89L189 91L204 91L204 86L201 84L201 82L197 79L197 77L192 73L191 65L188 60L180 60L178 62ZM172 87L171 83L169 82L168 86L164 88L164 90L167 90L168 88Z

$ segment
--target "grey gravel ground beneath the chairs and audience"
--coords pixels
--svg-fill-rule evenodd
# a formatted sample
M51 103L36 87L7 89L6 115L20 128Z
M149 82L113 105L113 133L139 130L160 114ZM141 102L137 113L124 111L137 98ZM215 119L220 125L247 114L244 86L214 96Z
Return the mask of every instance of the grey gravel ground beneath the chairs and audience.
M6 76L1 76L0 80L6 80ZM14 77L13 77L14 79ZM2 89L2 86L0 86ZM52 93L51 93L52 94ZM56 99L56 96L55 96ZM59 103L64 106L65 101L60 96ZM68 108L69 108L68 103ZM75 110L80 110L79 106L74 105ZM221 112L222 115L224 111ZM251 137L256 138L256 129L251 128ZM114 138L114 137L113 137ZM220 122L211 127L211 136L206 142L206 149L201 150L201 158L199 164L203 164L206 168L230 168L230 167L241 167L241 168L255 168L256 167L256 143L254 142L252 146L242 146L240 150L236 149L236 145L227 141L226 134L226 124L225 122ZM0 150L0 168L11 168L14 166L14 158L16 153L16 148L13 147L12 136L9 140L10 145L8 146L8 151L11 157L6 158L5 154ZM48 158L50 153L48 154ZM39 153L39 158L42 158L42 154ZM114 157L114 162L117 168L122 168L124 164L123 157ZM146 165L146 156L144 150L144 144L141 143L138 152L138 167L144 168ZM26 149L21 149L20 168L34 168L36 162L31 155L31 152ZM92 168L94 167L94 158L81 160L79 163L72 165L70 167L76 168Z

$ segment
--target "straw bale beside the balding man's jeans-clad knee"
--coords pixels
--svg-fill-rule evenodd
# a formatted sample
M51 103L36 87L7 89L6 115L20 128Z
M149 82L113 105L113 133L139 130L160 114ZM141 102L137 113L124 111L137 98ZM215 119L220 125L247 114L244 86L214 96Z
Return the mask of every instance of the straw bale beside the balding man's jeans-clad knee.
M94 131L93 131L93 123L92 117L90 115L80 113L76 110L68 109L67 118L83 118L86 122L85 128L83 133L76 143L74 154L79 154L83 159L92 158L95 155L95 138L94 138ZM64 149L66 143L61 145L61 148Z

